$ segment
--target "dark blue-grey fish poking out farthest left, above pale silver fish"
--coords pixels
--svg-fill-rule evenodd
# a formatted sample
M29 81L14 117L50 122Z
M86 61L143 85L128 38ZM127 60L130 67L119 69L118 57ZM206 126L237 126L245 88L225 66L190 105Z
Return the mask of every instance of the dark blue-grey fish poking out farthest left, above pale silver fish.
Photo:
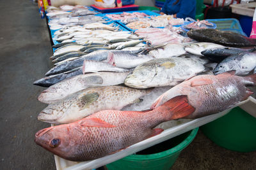
M47 76L45 78L41 78L39 80L36 80L33 83L33 85L38 85L41 87L50 87L51 85L54 85L55 83L58 83L66 78L70 78L72 76L76 76L79 74L83 74L82 67L79 67L79 69L74 69L74 71L68 71L66 73L60 73L52 76Z

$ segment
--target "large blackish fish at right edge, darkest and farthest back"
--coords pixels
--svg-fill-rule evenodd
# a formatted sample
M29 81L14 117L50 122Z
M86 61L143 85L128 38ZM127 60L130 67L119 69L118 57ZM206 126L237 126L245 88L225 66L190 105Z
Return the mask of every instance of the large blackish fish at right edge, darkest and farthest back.
M225 46L255 46L256 39L248 38L236 32L218 29L196 29L187 32L189 38L200 42L217 43Z

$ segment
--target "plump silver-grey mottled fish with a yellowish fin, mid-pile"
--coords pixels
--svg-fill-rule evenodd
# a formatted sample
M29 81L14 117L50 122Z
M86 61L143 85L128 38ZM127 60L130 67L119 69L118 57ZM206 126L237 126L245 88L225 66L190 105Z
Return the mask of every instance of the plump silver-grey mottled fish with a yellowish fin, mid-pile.
M149 60L135 67L124 83L136 89L174 86L205 71L206 62L199 58L180 57Z

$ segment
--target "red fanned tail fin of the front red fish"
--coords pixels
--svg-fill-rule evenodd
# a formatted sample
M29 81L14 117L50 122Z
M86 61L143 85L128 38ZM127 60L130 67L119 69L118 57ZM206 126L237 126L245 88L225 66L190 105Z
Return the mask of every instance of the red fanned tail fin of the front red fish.
M189 104L188 96L176 96L162 104L156 110L166 114L166 121L186 117L195 111Z

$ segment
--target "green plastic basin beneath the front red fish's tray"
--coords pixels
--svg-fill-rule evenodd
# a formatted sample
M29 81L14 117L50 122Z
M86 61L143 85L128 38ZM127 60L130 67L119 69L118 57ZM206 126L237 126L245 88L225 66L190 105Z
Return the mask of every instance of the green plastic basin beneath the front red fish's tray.
M116 169L170 169L179 154L193 141L198 128L106 165Z

